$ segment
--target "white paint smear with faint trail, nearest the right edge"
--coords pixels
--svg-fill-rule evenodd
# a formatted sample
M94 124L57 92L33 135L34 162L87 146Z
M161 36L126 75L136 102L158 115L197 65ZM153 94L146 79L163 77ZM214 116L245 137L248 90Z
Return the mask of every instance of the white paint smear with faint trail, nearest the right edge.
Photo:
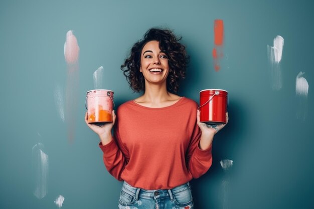
M296 118L305 120L308 109L308 83L303 75L304 73L299 72L295 79L295 94L297 99Z

